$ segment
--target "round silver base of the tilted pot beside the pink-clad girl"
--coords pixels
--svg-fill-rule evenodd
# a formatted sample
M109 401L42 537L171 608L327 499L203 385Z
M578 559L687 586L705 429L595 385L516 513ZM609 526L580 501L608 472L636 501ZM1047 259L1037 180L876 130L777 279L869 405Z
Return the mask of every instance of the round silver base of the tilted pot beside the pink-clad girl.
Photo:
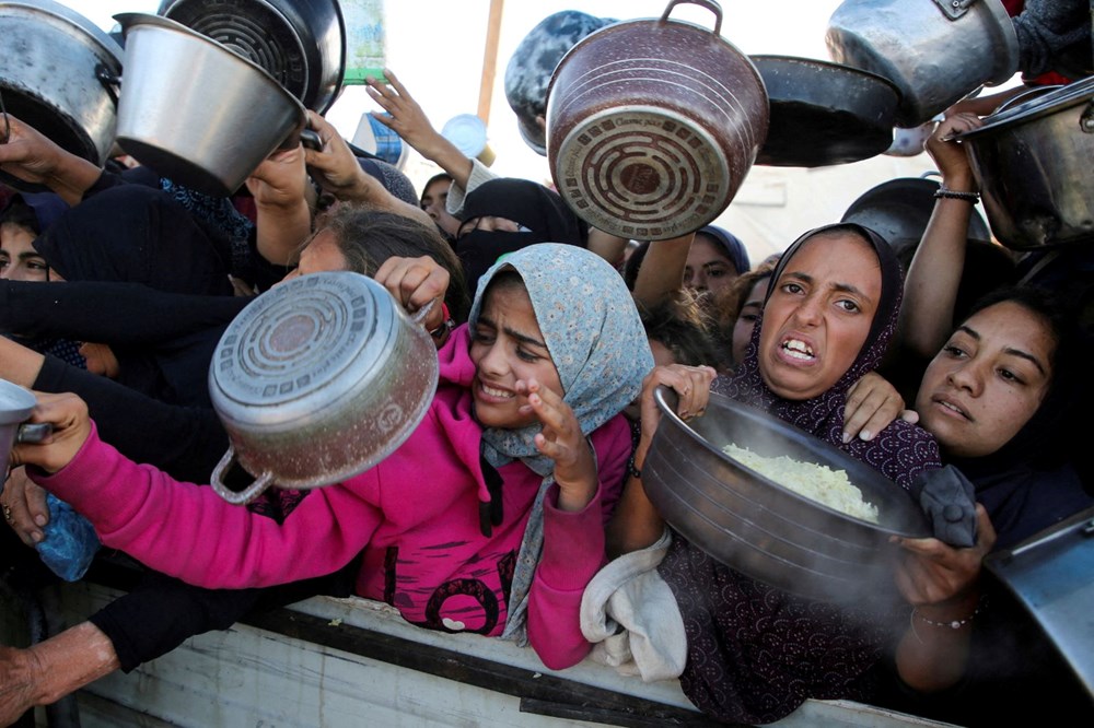
M267 291L224 331L209 369L218 414L292 422L347 397L389 362L401 312L372 279L302 275Z

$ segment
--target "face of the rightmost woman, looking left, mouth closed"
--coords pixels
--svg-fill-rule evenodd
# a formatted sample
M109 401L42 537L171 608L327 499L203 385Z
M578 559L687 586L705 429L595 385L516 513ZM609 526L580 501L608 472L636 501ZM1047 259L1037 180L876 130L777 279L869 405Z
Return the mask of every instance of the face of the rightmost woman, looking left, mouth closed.
M931 360L916 410L919 424L956 457L990 455L1040 407L1056 351L1048 325L1003 302L975 314Z

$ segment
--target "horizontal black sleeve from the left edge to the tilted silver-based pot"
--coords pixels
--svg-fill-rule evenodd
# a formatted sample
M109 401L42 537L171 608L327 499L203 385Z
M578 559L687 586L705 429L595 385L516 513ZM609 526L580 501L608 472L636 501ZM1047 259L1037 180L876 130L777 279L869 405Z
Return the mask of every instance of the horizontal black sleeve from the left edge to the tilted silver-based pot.
M107 344L160 344L222 328L253 298L166 293L140 283L0 281L0 331Z

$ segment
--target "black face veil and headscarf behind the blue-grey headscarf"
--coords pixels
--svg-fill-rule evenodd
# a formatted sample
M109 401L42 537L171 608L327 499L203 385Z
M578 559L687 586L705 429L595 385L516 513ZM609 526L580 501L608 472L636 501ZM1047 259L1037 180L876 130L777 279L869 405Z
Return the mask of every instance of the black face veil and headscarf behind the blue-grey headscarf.
M498 258L536 243L585 246L585 225L562 198L527 179L491 179L476 187L464 202L463 219L496 216L512 220L528 232L472 230L456 239L456 255L464 263L467 287L474 294L478 279Z

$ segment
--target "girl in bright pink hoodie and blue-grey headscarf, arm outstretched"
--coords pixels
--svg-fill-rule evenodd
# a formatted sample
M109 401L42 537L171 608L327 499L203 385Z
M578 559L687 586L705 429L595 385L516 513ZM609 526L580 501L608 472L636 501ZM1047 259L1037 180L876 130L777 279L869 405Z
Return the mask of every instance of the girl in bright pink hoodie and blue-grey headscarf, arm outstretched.
M429 629L526 633L546 665L572 665L589 648L578 603L630 455L617 413L652 366L638 314L593 254L534 246L488 272L440 357L410 438L280 525L120 457L72 397L43 398L57 435L16 458L47 468L39 481L106 544L159 571L238 588L322 575L363 550L357 594ZM440 544L446 557L431 557Z

